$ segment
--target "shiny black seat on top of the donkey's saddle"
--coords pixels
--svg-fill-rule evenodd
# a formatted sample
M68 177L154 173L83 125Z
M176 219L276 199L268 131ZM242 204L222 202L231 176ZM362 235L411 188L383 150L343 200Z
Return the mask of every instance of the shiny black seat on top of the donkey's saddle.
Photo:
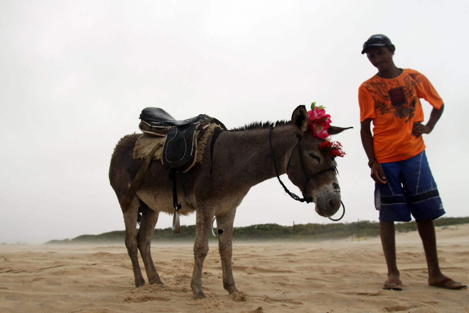
M190 125L195 125L201 122L208 121L207 115L198 115L191 117L187 120L176 121L173 116L167 113L165 110L160 109L159 107L146 107L142 110L140 114L140 119L145 122L151 122L153 127L188 127Z

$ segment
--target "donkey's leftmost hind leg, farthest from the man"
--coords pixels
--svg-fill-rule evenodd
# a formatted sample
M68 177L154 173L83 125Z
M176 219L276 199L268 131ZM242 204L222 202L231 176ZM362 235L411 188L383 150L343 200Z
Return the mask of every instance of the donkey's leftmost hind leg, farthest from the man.
M130 202L127 212L124 214L125 246L127 247L127 253L129 253L130 260L132 261L136 287L140 287L145 284L142 271L140 270L140 265L138 264L138 248L135 235L139 201L140 199L135 196L132 202Z

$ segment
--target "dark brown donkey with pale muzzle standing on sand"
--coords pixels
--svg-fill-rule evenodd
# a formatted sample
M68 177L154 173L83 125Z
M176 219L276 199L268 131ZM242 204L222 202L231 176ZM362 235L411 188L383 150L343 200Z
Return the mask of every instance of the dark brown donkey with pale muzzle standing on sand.
M295 109L291 122L278 121L271 129L272 126L270 122L252 123L220 132L212 147L207 144L203 164L184 174L187 195L178 192L182 204L179 213L187 215L196 212L195 262L190 283L194 293L192 298L205 297L202 291L202 266L209 250L208 240L214 217L219 233L223 287L229 293L238 291L231 268L236 208L252 186L275 177L276 170L278 175L287 173L290 181L303 191L303 197L309 198L307 202L314 202L319 215L332 216L340 207L337 177L334 170L328 170L333 169L333 162L327 152L319 150L323 140L313 135L305 106ZM345 128L331 126L329 133L334 135L343 130ZM143 163L143 160L133 159L134 145L139 136L133 134L121 138L112 155L109 180L119 203ZM211 138L208 140L210 142ZM145 283L138 264L137 249L148 281L163 284L151 259L150 245L159 213L174 214L172 181L168 173L169 170L161 162L152 162L129 209L123 214L125 245L132 261L136 287ZM312 177L307 179L308 176ZM141 202L144 204L140 205ZM139 206L142 221L136 235Z

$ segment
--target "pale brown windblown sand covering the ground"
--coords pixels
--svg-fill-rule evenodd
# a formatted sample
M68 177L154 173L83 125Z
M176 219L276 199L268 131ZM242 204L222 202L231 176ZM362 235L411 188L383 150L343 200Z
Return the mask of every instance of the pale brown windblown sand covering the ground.
M437 228L443 273L469 283L469 224ZM205 260L205 299L191 299L192 245L153 244L164 286L135 288L124 246L0 245L0 312L469 313L469 290L428 286L416 231L396 234L404 291L381 290L378 238L235 244L238 293L223 289L217 247ZM143 264L141 263L143 268ZM144 275L146 278L146 276Z

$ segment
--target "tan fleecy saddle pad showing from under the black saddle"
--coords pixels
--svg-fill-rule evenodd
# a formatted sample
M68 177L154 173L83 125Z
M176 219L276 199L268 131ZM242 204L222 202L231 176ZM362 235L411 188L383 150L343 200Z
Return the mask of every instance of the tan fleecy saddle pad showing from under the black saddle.
M204 160L204 151L205 151L205 146L207 145L207 140L213 134L213 131L216 128L223 129L221 126L219 126L216 123L210 123L210 125L207 127L207 130L204 132L204 134L197 140L197 149L195 151L194 160L189 165L189 167L183 171L184 173L187 172L194 165L202 164L202 161ZM166 141L166 137L152 137L152 136L148 136L145 134L140 135L134 147L134 155L133 155L134 160L146 159L148 155L150 154L151 149L153 149L155 145L157 145L158 143L164 145L165 141ZM153 160L162 160L162 153L163 153L163 147L157 149L156 152L153 154Z

